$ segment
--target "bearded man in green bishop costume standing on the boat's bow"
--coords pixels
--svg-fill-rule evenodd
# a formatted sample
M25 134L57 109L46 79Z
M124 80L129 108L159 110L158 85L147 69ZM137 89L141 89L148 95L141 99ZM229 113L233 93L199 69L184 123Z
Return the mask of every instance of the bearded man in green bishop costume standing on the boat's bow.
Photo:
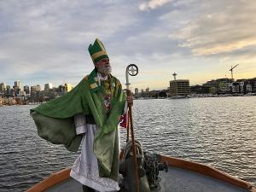
M67 150L81 154L70 176L83 184L84 191L119 190L118 124L125 108L125 94L111 75L108 54L96 38L90 44L93 71L66 95L31 110L38 135ZM132 103L132 98L127 101Z

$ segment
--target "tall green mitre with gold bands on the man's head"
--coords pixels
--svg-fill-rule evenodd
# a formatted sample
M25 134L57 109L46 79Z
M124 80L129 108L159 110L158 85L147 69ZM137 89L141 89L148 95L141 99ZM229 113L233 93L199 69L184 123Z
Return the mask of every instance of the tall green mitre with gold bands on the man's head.
M103 58L108 58L108 53L104 48L104 45L100 41L100 39L96 38L94 44L90 44L88 47L90 57L94 63L102 60Z

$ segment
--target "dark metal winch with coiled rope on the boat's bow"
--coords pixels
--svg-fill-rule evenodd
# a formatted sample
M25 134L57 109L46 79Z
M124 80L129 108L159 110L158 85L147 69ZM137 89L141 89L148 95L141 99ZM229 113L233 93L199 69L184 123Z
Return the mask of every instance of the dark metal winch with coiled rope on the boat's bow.
M167 163L160 164L157 154L143 152L142 144L135 140L137 151L137 173L139 191L160 191L159 171L168 171ZM124 148L123 158L119 163L121 178L119 185L123 192L136 192L136 178L132 160L132 143L129 141Z

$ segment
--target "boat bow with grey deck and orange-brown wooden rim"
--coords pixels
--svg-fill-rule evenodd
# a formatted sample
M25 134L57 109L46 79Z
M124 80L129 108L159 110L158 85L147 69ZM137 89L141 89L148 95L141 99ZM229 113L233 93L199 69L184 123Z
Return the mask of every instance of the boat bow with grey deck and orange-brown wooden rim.
M160 188L150 190L152 192L256 192L251 183L212 166L165 155L159 156L159 162L167 162L169 171L159 173ZM82 192L82 184L69 177L70 170L53 173L26 192Z

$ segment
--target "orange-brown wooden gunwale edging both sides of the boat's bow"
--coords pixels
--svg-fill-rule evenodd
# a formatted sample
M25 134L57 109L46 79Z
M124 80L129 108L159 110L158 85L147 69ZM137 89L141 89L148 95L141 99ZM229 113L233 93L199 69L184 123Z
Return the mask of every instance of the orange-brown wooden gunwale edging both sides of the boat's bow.
M166 155L160 155L160 162L163 163L165 161L167 161L168 166L174 166L191 172L201 173L204 176L216 178L225 183L230 183L242 189L247 189L250 192L256 192L256 189L251 183L243 181L237 177L233 177L228 173L221 172L212 166L193 162L191 160L183 160ZM26 192L43 192L58 183L66 181L70 177L70 172L71 168L67 167L60 172L52 173L49 177L44 178L44 180L40 183L37 183L36 185L32 186L32 188L27 189Z

